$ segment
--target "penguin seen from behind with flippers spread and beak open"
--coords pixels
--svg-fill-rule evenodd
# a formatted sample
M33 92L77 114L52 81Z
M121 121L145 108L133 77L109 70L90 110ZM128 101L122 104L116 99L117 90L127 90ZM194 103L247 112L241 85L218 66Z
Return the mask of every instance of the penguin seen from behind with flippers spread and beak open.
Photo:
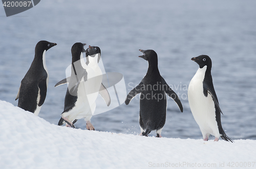
M139 57L148 62L147 73L139 85L127 95L125 104L129 104L140 93L140 135L147 136L152 130L156 130L157 137L161 137L161 130L166 119L166 94L174 99L181 112L183 111L183 107L177 94L170 89L160 75L157 53L154 50L140 49L140 51L143 55Z

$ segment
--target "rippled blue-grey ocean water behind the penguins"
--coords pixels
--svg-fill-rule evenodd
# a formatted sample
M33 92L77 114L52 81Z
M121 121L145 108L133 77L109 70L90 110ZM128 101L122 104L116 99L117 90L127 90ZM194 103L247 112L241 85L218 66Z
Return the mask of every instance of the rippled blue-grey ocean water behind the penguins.
M46 0L10 17L0 7L0 100L17 105L20 81L40 40L58 44L46 53L49 85L39 113L52 124L58 123L67 90L54 85L66 76L75 42L99 46L105 71L122 73L127 93L147 71L139 49L154 49L161 75L184 108L179 112L168 99L162 136L202 138L188 105L187 87L198 69L190 59L207 54L224 114L223 129L232 139L256 139L255 7L255 1ZM93 116L95 129L139 134L137 98ZM76 127L85 129L86 123L80 119Z

